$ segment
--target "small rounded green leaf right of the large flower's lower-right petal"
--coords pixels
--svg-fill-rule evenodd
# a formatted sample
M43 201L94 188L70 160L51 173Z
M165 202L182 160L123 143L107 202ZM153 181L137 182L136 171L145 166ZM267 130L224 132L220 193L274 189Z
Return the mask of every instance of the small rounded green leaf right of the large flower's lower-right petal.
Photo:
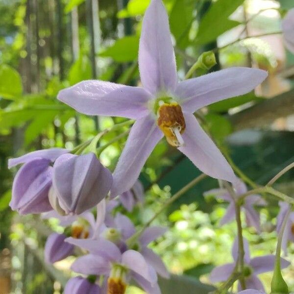
M219 142L233 131L231 123L221 115L209 113L205 119L212 137Z

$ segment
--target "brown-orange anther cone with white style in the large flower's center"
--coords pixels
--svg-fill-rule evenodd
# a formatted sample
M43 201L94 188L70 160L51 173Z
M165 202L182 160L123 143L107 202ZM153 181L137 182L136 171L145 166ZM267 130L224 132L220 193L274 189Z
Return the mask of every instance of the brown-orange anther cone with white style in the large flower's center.
M181 134L185 131L186 123L181 106L176 102L159 101L157 124L173 147L184 144Z

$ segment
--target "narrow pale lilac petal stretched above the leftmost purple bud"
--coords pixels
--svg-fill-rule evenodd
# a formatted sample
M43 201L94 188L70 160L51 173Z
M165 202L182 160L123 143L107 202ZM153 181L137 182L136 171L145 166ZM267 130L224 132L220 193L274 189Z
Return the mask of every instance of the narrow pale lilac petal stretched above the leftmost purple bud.
M8 159L8 169L14 166L17 166L19 164L28 163L36 158L48 159L49 161L53 162L55 161L57 157L67 152L69 152L69 150L63 149L63 148L50 148L50 149L32 151L21 157Z

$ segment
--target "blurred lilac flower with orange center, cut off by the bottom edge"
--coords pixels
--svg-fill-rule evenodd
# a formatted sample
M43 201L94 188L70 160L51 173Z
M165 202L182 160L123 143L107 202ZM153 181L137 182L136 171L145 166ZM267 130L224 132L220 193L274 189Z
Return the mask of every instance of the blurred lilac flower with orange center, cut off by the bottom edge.
M79 257L72 270L86 275L105 275L108 279L107 293L124 293L131 279L135 280L147 293L160 294L155 270L147 263L142 254L135 250L121 253L120 249L108 240L76 240L68 242L90 252ZM120 289L115 292L114 289Z

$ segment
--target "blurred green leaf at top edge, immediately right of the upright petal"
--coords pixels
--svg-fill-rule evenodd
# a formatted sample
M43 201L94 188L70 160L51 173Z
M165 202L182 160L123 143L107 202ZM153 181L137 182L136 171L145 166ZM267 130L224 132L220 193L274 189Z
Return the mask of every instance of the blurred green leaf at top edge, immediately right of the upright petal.
M175 0L170 14L171 32L177 46L186 48L189 44L189 32L193 20L193 6L190 0Z

